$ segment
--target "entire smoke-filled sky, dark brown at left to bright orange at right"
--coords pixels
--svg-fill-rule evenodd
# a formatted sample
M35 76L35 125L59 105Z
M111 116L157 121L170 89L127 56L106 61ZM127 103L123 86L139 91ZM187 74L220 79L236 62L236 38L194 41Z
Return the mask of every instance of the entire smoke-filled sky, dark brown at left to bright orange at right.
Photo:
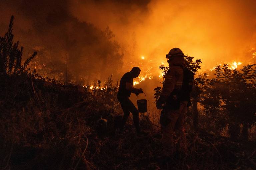
M159 75L158 66L167 64L165 54L173 47L201 58L203 70L224 62L255 63L255 0L17 0L1 5L0 33L15 15L16 39L30 52L39 50L52 70L61 66L56 72L64 71L67 56L76 80L110 74L120 79L133 66Z

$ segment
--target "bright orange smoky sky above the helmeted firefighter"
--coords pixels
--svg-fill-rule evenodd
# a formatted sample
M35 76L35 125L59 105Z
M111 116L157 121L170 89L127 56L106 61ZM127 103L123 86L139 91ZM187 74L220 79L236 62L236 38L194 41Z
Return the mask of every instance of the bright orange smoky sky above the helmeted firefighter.
M216 64L255 62L255 0L72 1L72 15L99 28L109 26L123 48L134 50L124 60L154 60L179 47L202 59L202 69ZM135 48L131 48L132 44Z

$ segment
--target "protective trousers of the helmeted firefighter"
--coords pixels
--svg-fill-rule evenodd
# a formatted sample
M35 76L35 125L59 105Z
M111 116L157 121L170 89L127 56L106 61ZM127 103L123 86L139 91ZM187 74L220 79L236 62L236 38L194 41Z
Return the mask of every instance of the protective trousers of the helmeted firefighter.
M162 143L165 154L172 156L174 153L174 132L176 134L179 148L186 152L186 136L184 132L184 120L187 112L187 101L180 102L180 107L177 110L165 110L165 117L168 119L168 124L162 126Z

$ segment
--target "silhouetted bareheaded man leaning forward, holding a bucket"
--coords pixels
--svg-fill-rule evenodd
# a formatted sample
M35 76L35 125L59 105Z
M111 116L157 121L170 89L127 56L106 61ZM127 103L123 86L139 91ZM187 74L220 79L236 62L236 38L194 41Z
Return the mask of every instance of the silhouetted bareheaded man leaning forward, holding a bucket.
M126 124L126 121L129 117L130 112L133 116L133 123L136 128L136 132L138 136L145 135L144 132L141 132L140 125L139 125L139 111L134 106L132 101L129 99L131 93L135 93L136 95L143 93L142 89L137 89L133 87L133 79L138 77L140 74L140 68L139 67L133 67L130 72L127 72L123 75L123 77L120 80L120 86L119 91L117 93L117 99L121 104L121 107L124 112L124 116L121 121L121 127L120 132L124 130L124 126Z

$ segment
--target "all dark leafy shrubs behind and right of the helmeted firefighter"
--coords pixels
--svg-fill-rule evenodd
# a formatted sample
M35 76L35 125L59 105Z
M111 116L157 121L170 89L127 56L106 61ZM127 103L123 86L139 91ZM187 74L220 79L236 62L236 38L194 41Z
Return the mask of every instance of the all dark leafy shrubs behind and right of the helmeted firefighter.
M193 61L194 57L186 57L186 67L196 74L200 69L201 60ZM169 67L161 65L163 82ZM193 121L195 130L207 128L209 131L220 133L228 127L233 139L240 134L240 125L243 126L243 139L248 140L248 128L255 123L256 116L256 72L255 64L243 66L240 71L230 69L228 64L216 66L215 77L208 79L208 75L198 75L194 79L192 96L192 110L187 116ZM157 101L161 94L161 87L154 89L154 99ZM198 111L198 103L203 107ZM192 112L192 113L190 113ZM201 121L199 121L201 117ZM205 120L203 120L205 117Z

